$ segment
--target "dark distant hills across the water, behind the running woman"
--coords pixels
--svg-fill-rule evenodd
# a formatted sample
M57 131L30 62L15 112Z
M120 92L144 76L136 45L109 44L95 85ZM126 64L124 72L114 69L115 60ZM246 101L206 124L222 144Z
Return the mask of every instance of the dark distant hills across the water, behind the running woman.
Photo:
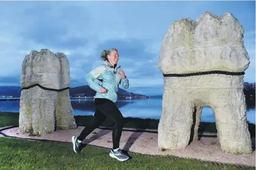
M95 96L96 92L93 91L88 85L87 86L77 86L70 88L70 97L78 96ZM19 86L0 86L0 96L13 96L13 98L19 98L21 96L21 88ZM124 89L119 88L118 91L119 98L133 97L133 98L149 98L142 94L129 93Z

